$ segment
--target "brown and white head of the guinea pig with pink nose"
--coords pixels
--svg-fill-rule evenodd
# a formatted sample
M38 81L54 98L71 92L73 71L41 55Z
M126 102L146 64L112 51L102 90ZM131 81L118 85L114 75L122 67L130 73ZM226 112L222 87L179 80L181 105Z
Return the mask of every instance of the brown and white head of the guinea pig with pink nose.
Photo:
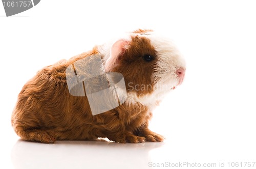
M103 60L106 72L123 75L127 93L156 100L181 85L186 70L175 45L151 30L137 30L115 41Z

